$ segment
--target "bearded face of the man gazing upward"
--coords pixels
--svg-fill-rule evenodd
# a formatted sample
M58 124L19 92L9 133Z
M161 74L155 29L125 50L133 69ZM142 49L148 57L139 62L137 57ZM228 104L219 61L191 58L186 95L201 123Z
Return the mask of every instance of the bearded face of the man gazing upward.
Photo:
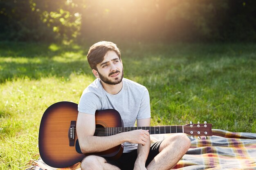
M123 64L115 51L108 51L104 60L97 64L97 69L98 71L92 70L92 72L106 84L119 84L124 77Z

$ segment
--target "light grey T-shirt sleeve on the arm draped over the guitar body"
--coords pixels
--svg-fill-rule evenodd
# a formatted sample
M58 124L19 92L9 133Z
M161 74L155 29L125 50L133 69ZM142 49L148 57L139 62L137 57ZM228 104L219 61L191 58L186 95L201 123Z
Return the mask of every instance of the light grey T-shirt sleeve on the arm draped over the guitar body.
M86 92L83 93L80 98L78 111L95 115L96 110L99 110L100 106L101 102L99 97L92 92Z

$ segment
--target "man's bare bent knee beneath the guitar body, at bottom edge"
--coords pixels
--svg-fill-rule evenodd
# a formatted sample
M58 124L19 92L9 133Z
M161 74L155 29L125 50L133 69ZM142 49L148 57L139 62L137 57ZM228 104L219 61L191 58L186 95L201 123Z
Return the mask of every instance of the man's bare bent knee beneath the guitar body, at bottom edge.
M103 157L90 155L83 159L81 163L82 170L120 170L117 166L107 163Z

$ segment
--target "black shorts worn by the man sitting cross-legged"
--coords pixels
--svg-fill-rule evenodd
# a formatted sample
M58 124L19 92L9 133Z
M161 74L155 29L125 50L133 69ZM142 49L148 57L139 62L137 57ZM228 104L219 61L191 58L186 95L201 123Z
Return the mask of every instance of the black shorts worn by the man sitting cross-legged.
M151 144L150 150L148 153L148 158L147 158L146 164L145 164L146 167L154 159L154 157L157 154L159 154L159 148L160 148L161 143L162 143L162 141L157 141L156 143ZM114 166L117 166L121 170L133 170L135 161L137 159L137 149L132 150L132 152L123 153L122 156L116 161L108 160L108 158L106 158L106 157L104 157L104 158L107 160L108 163L110 163Z

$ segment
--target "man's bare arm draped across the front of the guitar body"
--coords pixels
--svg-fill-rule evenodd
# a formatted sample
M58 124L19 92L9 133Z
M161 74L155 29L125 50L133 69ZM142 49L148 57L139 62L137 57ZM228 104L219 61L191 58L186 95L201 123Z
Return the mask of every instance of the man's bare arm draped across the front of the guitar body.
M101 152L125 141L141 145L146 145L148 141L150 142L149 133L146 130L132 130L107 137L93 136L95 132L95 115L81 112L78 113L76 132L83 153Z

